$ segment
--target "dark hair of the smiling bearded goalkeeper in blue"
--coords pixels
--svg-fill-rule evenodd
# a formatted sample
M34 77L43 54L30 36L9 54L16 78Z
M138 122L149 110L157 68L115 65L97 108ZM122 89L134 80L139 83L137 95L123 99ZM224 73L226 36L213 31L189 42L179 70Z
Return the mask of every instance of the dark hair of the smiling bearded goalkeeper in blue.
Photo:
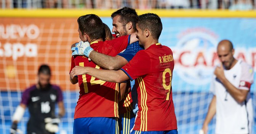
M136 13L135 9L123 7L121 9L118 9L114 13L111 14L111 18L113 19L115 16L120 16L120 23L123 24L123 27L128 22L131 22L133 24L133 29L136 30L136 23L138 22L138 14Z

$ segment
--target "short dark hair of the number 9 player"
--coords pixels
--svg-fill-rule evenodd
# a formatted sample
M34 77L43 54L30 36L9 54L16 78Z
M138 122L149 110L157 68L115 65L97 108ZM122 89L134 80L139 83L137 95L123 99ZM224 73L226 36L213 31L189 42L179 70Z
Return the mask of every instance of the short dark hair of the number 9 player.
M138 27L144 31L148 29L152 33L153 39L159 39L163 25L160 17L154 13L146 13L139 16Z

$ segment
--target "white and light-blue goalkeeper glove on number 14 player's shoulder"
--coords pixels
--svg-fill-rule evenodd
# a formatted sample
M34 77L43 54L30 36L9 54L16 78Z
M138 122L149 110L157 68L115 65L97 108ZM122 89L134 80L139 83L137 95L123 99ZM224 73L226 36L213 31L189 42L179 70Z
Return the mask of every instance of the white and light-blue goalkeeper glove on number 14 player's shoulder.
M85 55L86 57L89 57L90 52L93 51L93 49L90 47L90 43L83 41L75 44L75 47L72 47L71 50L73 51L72 56Z

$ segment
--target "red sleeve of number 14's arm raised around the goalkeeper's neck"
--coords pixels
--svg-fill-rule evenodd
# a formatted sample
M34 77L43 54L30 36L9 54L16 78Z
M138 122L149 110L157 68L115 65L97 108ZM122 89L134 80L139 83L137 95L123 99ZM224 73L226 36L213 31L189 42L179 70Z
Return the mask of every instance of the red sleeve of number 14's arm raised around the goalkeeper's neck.
M106 51L110 56L115 56L122 52L130 44L130 35L121 36L111 41L104 41L103 52Z

